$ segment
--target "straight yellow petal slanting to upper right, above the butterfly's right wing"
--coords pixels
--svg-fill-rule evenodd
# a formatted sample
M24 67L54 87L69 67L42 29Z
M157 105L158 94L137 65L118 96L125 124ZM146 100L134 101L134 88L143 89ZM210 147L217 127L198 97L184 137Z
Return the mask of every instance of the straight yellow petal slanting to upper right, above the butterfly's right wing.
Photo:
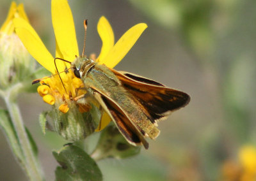
M141 23L131 27L110 50L108 55L101 61L109 68L113 68L120 62L124 56L129 52L134 43L138 40L141 33L147 28L147 24Z

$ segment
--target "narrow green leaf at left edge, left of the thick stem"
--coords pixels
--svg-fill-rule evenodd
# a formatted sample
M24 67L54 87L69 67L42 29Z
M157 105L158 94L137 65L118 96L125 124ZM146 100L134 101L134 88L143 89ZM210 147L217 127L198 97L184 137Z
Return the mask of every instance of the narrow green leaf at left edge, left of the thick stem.
M0 110L0 126L2 127L4 134L10 144L13 154L17 157L19 163L24 166L24 156L20 148L20 142L17 137L17 133L13 127L10 115L6 110Z

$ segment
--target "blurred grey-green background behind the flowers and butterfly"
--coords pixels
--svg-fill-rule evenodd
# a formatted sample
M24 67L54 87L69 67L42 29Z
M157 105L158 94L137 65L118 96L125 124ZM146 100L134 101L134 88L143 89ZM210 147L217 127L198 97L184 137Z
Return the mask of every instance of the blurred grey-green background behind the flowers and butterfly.
M31 24L54 55L51 1L16 2L24 3ZM1 24L10 3L0 1ZM132 25L147 23L146 31L115 69L152 78L191 96L186 108L159 123L161 134L156 141L148 140L148 150L142 148L129 159L100 161L104 180L255 180L256 163L248 171L246 161L253 165L256 157L256 1L95 0L69 4L80 52L83 20L88 19L86 54L99 55L97 22L102 15L112 25L115 41ZM19 104L39 147L46 178L54 180L57 163L51 152L67 141L55 133L42 134L38 115L51 107L38 94L22 94ZM4 108L3 101L0 107ZM0 180L26 180L2 132L0 144ZM248 172L251 176L244 176Z

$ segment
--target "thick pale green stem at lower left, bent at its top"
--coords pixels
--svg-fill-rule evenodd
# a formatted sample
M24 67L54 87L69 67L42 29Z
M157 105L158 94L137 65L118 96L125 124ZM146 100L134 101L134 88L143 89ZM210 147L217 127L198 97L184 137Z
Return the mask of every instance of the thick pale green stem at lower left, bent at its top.
M44 177L42 176L42 169L40 168L40 164L33 153L33 149L29 142L28 134L26 133L24 122L20 114L19 106L16 101L17 92L22 88L23 86L21 83L14 85L11 89L6 91L4 101L8 108L8 112L10 113L15 132L17 133L21 150L24 154L24 161L26 164L25 169L30 180L44 180Z

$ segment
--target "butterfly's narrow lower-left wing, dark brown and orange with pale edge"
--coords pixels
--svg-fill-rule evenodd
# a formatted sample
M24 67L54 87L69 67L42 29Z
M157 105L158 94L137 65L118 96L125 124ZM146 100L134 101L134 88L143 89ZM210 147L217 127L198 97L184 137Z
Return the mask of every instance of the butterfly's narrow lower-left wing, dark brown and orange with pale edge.
M93 89L93 87L91 88ZM97 91L97 89L94 89L94 91L95 99L100 103L105 112L108 113L113 122L115 122L116 127L124 136L125 140L134 146L143 144L147 149L148 143L143 134L132 124L131 120L128 119L122 108L120 108L120 106L118 106L111 98Z

